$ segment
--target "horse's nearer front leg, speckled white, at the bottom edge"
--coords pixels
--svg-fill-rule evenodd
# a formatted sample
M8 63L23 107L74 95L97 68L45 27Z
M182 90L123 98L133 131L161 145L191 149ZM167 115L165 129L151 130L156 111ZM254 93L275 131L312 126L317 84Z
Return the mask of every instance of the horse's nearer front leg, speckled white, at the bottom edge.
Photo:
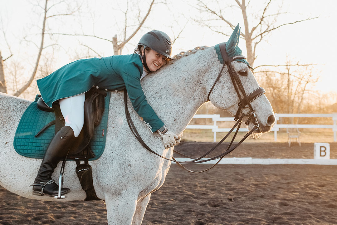
M119 196L105 196L108 225L131 225L136 210L137 195L126 191Z

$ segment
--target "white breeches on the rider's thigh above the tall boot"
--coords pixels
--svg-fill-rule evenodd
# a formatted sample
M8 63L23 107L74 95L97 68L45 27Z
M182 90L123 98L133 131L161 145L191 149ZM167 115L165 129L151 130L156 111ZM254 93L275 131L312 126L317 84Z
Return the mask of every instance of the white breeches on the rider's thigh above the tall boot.
M65 126L72 128L75 137L79 136L84 124L84 101L84 93L59 100Z

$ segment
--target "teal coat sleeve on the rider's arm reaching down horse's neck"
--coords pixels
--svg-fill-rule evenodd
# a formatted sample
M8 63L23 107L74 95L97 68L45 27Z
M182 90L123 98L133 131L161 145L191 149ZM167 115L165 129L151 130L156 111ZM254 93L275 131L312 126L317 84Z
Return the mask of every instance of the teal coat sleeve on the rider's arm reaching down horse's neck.
M151 129L151 131L155 132L161 128L164 123L159 119L153 108L146 100L140 82L141 72L142 71L139 70L135 63L127 63L121 76L124 80L125 87L134 110L140 117L143 117L143 120Z

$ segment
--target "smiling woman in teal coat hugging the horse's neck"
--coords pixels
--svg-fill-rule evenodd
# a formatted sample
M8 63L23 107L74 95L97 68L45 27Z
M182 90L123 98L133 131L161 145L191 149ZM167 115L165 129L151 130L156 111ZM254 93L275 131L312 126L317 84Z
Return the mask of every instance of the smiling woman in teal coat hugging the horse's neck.
M82 130L84 93L93 86L116 91L126 88L133 108L152 133L157 131L161 135L165 148L180 142L181 137L168 131L147 103L140 83L148 72L158 70L166 58L171 58L171 38L164 32L153 30L140 39L137 49L141 54L77 60L37 80L42 99L49 107L59 101L65 126L55 134L47 148L34 181L34 195L58 195L58 185L51 176ZM69 188L61 189L61 195L69 192Z

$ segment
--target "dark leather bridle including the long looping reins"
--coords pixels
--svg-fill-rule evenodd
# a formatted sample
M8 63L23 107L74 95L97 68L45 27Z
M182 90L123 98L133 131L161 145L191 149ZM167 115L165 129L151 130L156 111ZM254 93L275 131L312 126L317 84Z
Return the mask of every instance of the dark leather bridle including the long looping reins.
M216 165L221 161L221 159L222 159L225 155L231 153L231 152L232 152L234 149L236 149L236 148L237 148L237 147L238 147L238 146L239 146L239 145L240 145L240 144L241 144L241 143L242 143L242 142L243 142L243 141L244 141L250 134L252 134L255 130L259 129L259 124L258 124L257 118L256 118L256 116L255 116L255 110L254 110L253 107L251 106L250 102L252 102L254 99L256 99L257 97L259 97L259 96L261 96L262 94L264 94L266 91L265 91L262 87L259 87L259 88L257 88L256 90L254 90L252 93L250 93L249 95L246 95L245 90L244 90L244 88L243 88L243 86L242 86L242 83L241 83L241 81L240 81L240 78L239 78L238 74L235 72L234 68L233 68L232 65L231 65L231 62L233 62L234 60L236 60L236 59L246 59L246 57L245 57L245 56L242 56L242 55L239 55L239 56L234 56L234 57L232 57L232 58L229 58L228 55L227 55L227 53L226 53L225 42L220 43L219 45L220 45L220 52L221 52L221 55L222 55L222 58L223 58L223 61L224 61L224 62L223 62L223 66L222 66L222 68L221 68L221 70L220 70L220 73L219 73L218 77L216 78L216 80L215 80L215 82L214 82L214 84L213 84L213 86L212 86L210 92L208 93L207 99L209 100L209 96L210 96L210 94L211 94L211 92L212 92L214 86L216 85L217 81L219 80L219 78L220 78L220 76L221 76L221 73L222 73L222 71L223 71L224 66L227 65L228 72L229 72L229 75L231 76L231 79L232 79L232 82L233 82L235 91L236 91L236 93L238 94L238 97L239 97L239 99L240 99L240 102L238 103L239 108L238 108L237 113L236 113L236 115L235 115L235 117L234 117L234 120L237 121L237 122L236 122L235 125L232 127L232 129L231 129L231 130L230 130L230 131L229 131L229 132L228 132L228 133L227 133L227 134L226 134L226 135L225 135L225 136L224 136L224 137L223 137L223 138L222 138L222 139L221 139L221 140L220 140L220 141L219 141L213 148L212 148L212 149L210 149L207 153L205 153L204 155L202 155L202 156L200 156L200 157L198 157L198 158L193 158L193 157L190 157L190 156L186 156L186 155L184 155L184 154L182 154L182 153L177 152L177 151L174 150L174 152L176 152L177 154L192 159L192 160L190 160L190 161L177 161L177 160L175 160L174 157L172 157L172 159L168 159L168 158L166 158L166 157L164 157L164 156L159 155L158 153L154 152L153 150L151 150L151 149L146 145L146 143L144 142L144 140L142 139L142 137L139 135L139 133L138 133L136 127L134 126L134 124L133 124L133 122L132 122L132 120L131 120L131 116L130 116L130 113L129 113L129 109L128 109L128 107L127 107L127 91L126 91L126 89L124 89L124 108L125 108L125 116L126 116L127 123L128 123L128 125L129 125L129 127L130 127L130 130L131 130L131 132L133 133L133 135L136 137L136 139L142 144L142 146L143 146L144 148L146 148L147 150L149 150L149 151L152 152L153 154L155 154L155 155L157 155L157 156L159 156L159 157L161 157L161 158L163 158L163 159L166 159L166 160L170 160L170 161L172 161L172 162L175 162L175 163L177 163L180 167L182 167L183 169L185 169L185 170L187 170L187 171L189 171L189 172L193 172L193 173L201 173L201 172L204 172L204 171L207 171L207 170L213 168L214 166L216 166ZM241 95L240 95L239 90L240 90L240 92L241 92L243 98L241 98ZM247 105L248 105L248 107L247 107ZM244 109L244 108L249 108L248 113L244 114L244 113L242 112L242 109ZM239 116L240 113L241 113L241 116ZM238 131L239 131L239 129L240 129L240 126L241 126L241 123L242 123L242 119L243 119L244 116L247 116L247 117L248 117L248 119L247 119L247 121L246 121L246 125L248 125L249 122L250 122L250 120L252 120L252 122L254 123L253 129L250 130L250 131L249 131L249 132L248 132L248 133L241 139L241 141L239 141L237 144L235 144L235 146L231 147L232 144L233 144L233 142L234 142L234 139L235 139L235 137L236 137L236 135L237 135L237 133L238 133ZM212 158L209 158L209 159L203 159L205 156L207 156L208 154L210 154L214 149L216 149L216 148L217 148L217 147L218 147L218 146L219 146L219 145L220 145L220 144L221 144L221 143L222 143L222 142L229 136L229 134L232 133L232 131L235 129L235 127L237 127L237 129L236 129L235 134L234 134L234 136L233 136L231 142L229 143L229 145L228 145L226 151L223 152L223 153L221 153L220 155L215 156L215 157L212 157ZM217 161L213 166L211 166L211 167L208 168L208 169L205 169L205 170L203 170L203 171L198 171L198 172L191 171L191 170L185 168L184 166L182 166L182 165L180 164L180 163L183 163L183 164L196 164L196 163L203 163L203 162L208 162L208 161L211 161L211 160L217 160L217 159L218 159L218 161Z

